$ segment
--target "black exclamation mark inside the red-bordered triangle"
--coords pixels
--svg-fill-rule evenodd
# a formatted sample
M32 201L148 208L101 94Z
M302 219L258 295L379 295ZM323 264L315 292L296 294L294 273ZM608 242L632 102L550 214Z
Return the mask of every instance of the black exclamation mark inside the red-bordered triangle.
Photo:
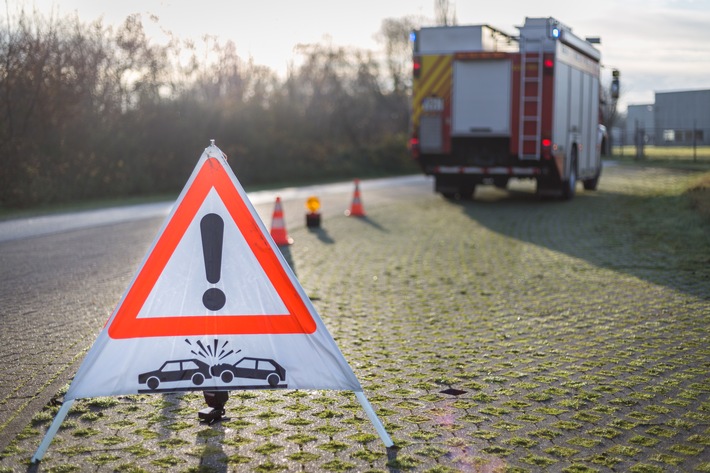
M217 284L222 273L222 240L224 239L224 220L217 214L207 214L200 221L202 232L202 254L205 257L207 281ZM224 307L227 297L220 289L211 287L202 295L202 303L209 310Z

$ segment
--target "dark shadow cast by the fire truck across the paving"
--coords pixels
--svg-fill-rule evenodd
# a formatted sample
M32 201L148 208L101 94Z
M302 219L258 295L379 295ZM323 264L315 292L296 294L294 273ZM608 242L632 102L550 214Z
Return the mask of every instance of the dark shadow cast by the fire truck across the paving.
M683 196L601 190L561 201L496 190L450 202L496 233L710 298L710 223Z

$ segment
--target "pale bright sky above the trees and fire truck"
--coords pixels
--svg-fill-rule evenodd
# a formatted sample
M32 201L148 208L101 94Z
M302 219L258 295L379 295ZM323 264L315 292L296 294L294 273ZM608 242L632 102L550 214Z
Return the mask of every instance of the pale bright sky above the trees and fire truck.
M416 16L433 24L434 0L6 0L85 21L120 24L132 13L180 38L232 40L237 54L285 74L297 44L324 40L378 51L385 18ZM654 92L710 89L710 0L451 0L458 24L489 24L517 35L525 17L555 17L580 37L598 36L609 81L621 72L621 109L653 103ZM11 10L11 8L9 8ZM163 36L161 38L161 36Z

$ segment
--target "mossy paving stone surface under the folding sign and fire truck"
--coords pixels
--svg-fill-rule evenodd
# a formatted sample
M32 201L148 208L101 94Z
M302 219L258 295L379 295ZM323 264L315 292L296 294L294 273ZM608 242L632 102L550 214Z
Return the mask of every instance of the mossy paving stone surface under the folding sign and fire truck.
M521 185L290 231L396 450L349 392L234 392L212 426L199 393L138 395L77 401L40 470L710 471L710 222L667 211L687 179L618 166L571 202Z

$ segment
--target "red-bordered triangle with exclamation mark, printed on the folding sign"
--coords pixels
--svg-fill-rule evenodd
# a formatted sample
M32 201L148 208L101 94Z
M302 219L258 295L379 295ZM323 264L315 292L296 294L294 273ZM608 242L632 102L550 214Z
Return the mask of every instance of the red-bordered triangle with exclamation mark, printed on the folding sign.
M110 321L111 338L316 329L298 283L222 161L198 163Z

